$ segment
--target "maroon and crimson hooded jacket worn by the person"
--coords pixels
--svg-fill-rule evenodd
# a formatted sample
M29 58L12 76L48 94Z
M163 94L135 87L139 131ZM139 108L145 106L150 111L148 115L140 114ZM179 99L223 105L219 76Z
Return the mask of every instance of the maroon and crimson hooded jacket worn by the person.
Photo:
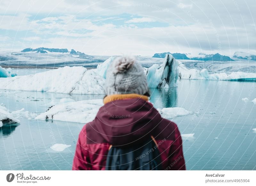
M96 118L82 128L72 170L105 170L110 145L125 146L153 136L164 170L185 170L177 125L161 118L143 99L125 99L100 107Z

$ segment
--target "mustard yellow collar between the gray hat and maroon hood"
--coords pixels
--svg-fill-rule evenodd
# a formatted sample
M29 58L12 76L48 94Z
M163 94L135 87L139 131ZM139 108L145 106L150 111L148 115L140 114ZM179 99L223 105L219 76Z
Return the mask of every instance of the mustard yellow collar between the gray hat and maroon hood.
M140 95L140 94L113 94L113 95L106 96L103 99L103 103L106 104L106 103L116 101L116 100L133 99L133 98L140 98L145 101L148 101L148 96L144 96L144 95Z

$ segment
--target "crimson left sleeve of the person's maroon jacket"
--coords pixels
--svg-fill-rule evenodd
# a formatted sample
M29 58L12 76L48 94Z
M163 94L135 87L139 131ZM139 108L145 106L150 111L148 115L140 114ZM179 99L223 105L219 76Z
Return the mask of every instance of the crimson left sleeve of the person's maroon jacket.
M86 144L86 129L84 126L78 136L72 170L91 170L91 168L89 149Z

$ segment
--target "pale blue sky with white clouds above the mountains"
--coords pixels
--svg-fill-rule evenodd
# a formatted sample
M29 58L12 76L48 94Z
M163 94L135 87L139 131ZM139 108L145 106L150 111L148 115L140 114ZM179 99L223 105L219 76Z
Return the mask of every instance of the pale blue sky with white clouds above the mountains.
M0 50L256 54L255 0L0 0Z

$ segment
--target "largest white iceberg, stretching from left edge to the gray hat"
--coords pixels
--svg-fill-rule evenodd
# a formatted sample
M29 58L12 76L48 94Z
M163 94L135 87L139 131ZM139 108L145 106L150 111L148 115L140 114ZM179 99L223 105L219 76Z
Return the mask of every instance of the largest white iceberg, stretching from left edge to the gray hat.
M82 66L65 66L32 75L0 78L0 89L66 94L104 94L105 79Z

